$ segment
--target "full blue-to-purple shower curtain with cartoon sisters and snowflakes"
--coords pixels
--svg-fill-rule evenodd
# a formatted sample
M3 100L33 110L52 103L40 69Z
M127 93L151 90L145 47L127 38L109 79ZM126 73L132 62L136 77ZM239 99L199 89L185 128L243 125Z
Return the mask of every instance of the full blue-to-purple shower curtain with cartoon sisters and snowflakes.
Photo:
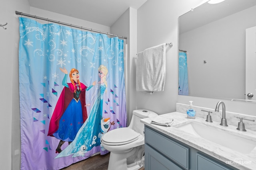
M21 169L57 170L126 127L124 40L20 18Z

